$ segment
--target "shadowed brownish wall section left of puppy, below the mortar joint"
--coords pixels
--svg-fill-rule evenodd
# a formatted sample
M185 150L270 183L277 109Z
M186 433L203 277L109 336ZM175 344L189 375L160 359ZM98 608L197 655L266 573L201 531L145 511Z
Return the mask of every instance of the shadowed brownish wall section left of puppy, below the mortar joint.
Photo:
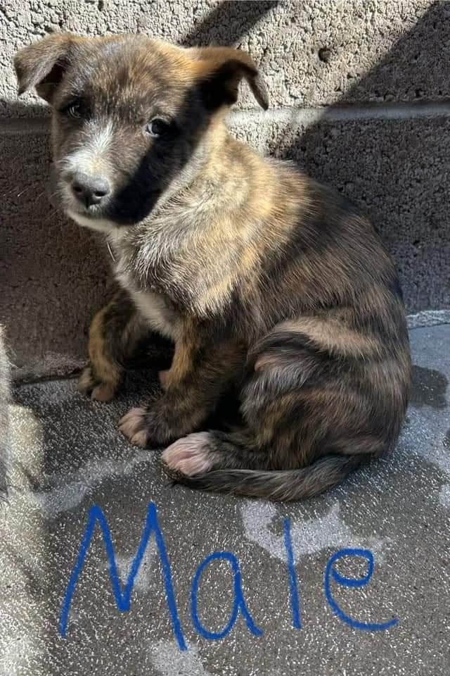
M22 166L14 158L24 146ZM96 237L49 203L46 134L0 137L0 156L0 320L15 365L44 361L41 373L54 373L61 355L84 355L87 315L108 295L108 263Z

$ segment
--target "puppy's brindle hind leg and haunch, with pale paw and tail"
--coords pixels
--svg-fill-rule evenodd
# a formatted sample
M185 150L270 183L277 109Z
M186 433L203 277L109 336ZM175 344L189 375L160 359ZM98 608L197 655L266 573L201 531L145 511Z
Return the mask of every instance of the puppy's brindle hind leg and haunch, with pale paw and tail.
M396 384L385 384L383 362L348 353L350 337L335 337L342 342L335 358L297 325L277 327L250 355L240 397L245 426L179 439L162 453L167 473L198 489L297 500L380 456L404 403Z

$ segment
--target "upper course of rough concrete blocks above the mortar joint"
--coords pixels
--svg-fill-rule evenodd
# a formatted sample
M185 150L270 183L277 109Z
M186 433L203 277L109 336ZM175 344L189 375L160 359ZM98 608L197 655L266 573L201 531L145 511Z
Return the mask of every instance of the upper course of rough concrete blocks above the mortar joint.
M15 50L60 30L145 32L185 45L236 44L260 63L275 107L450 96L448 2L4 0L2 115L16 114ZM255 106L250 96L241 105ZM23 115L30 112L20 109Z

